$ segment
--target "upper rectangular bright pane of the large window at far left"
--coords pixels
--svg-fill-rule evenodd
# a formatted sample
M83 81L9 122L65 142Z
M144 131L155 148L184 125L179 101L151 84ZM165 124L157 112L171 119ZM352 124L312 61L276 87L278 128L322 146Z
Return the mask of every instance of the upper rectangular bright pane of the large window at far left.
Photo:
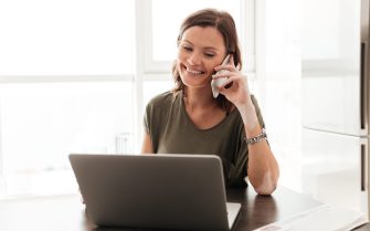
M0 1L0 75L133 73L134 13L134 0Z

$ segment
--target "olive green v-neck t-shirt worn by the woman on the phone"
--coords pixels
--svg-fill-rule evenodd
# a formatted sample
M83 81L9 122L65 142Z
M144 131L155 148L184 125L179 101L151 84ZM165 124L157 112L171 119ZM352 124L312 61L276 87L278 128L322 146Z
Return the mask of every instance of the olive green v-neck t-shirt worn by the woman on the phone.
M264 127L253 95L252 102L260 125ZM199 129L186 112L182 93L166 92L148 103L144 124L151 138L154 153L218 155L223 162L226 186L246 186L247 145L237 109L229 113L212 128Z

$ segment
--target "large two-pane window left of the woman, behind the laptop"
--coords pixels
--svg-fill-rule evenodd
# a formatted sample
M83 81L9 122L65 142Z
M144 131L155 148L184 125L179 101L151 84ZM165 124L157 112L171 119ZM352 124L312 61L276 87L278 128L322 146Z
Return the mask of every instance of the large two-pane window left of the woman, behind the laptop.
M0 1L0 195L75 190L67 155L133 150L134 0Z

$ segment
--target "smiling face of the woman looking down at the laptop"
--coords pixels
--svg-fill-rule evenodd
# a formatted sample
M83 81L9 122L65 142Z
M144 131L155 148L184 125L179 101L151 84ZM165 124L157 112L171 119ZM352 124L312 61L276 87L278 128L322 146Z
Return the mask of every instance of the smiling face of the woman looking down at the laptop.
M222 34L213 27L191 27L179 43L177 69L187 86L210 87L214 67L226 55Z

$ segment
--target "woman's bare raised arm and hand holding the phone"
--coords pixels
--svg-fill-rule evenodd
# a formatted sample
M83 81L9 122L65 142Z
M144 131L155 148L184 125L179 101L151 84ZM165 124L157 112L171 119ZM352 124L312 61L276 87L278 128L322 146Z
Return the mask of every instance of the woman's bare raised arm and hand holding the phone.
M251 98L247 77L232 63L233 59L228 65L215 67L215 71L229 71L219 77L228 77L223 86L230 84L231 86L220 87L220 93L236 106L244 123L246 138L251 139L262 133L262 127ZM260 195L271 195L276 189L279 169L266 139L249 145L247 176L255 191Z

